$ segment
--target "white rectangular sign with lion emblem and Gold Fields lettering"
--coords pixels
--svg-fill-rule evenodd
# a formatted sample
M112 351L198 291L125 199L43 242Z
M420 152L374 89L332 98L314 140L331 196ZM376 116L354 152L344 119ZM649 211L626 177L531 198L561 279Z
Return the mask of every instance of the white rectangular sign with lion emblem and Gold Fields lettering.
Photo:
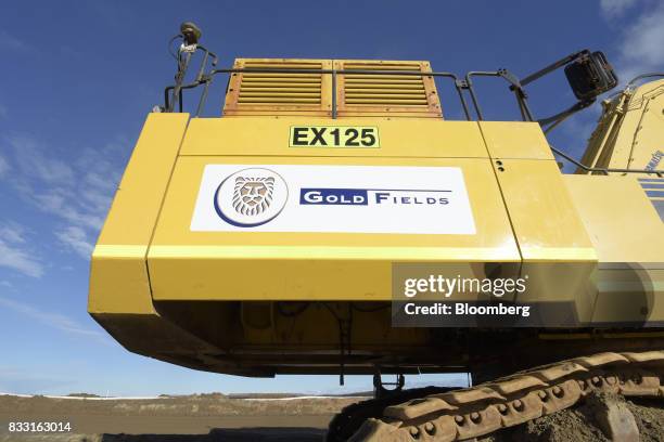
M207 165L197 232L474 234L457 167Z

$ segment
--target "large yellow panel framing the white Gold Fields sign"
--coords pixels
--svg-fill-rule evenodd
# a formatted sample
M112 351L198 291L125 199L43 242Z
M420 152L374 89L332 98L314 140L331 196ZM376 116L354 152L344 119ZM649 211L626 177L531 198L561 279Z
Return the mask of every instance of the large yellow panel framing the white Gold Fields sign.
M457 166L475 235L192 232L208 164ZM488 159L180 157L148 261L155 300L390 300L394 261L519 262Z

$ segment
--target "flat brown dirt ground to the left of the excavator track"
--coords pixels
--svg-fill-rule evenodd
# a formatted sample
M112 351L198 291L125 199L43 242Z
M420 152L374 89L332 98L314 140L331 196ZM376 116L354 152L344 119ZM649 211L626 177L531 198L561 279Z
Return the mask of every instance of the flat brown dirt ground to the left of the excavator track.
M0 442L321 441L358 398L246 400L222 394L156 400L0 396ZM9 422L71 422L65 433L9 432Z

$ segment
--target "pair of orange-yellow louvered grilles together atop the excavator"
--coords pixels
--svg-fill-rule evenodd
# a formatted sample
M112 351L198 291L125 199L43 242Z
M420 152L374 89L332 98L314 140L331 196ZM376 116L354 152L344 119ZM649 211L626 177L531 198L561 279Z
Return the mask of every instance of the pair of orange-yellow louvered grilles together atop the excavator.
M440 117L440 103L432 77L398 72L431 72L427 62L356 60L238 58L237 68L396 70L337 75L337 116ZM332 114L332 78L323 74L238 73L231 76L224 114Z

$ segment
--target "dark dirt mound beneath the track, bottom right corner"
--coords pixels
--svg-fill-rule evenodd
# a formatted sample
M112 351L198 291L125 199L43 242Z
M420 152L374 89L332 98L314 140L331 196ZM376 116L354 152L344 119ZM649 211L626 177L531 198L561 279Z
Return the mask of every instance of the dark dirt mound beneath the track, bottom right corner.
M625 400L606 393L590 394L573 408L507 428L478 442L610 442L611 434L602 418L605 410L628 410L638 427L640 441L664 441L664 401ZM627 417L629 414L627 413ZM628 427L629 422L621 422Z

